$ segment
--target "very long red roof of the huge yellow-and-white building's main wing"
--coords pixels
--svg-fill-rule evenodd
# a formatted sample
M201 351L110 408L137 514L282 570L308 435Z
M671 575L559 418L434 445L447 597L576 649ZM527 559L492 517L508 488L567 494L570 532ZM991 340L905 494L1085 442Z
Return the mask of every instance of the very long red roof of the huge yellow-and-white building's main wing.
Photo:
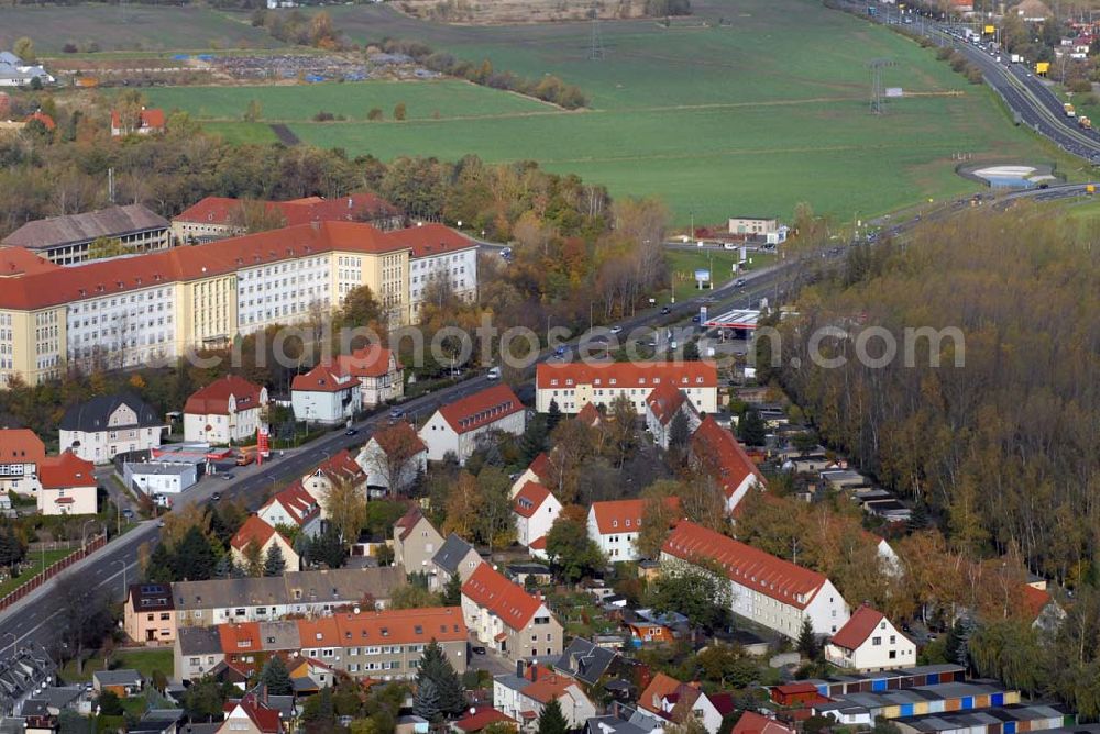
M408 249L370 224L320 222L231 237L124 259L96 260L10 278L0 308L29 310L143 288L210 278L248 266L270 265L328 252L393 253Z

